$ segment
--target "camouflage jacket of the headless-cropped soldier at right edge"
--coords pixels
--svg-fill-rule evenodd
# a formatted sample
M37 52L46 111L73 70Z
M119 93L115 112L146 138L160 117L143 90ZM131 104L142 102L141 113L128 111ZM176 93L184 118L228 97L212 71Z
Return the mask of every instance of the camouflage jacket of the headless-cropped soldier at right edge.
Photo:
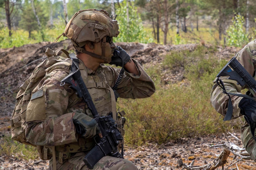
M235 55L236 59L242 64L242 66L254 77L255 79L255 69L256 69L256 39L250 43L248 43L241 51L239 51ZM228 93L241 93L242 89L248 88L248 86L241 87L237 85L237 82L234 80L229 80L229 76L220 77L223 81L226 91ZM250 90L251 94L255 98L255 93ZM232 105L233 105L233 115L232 119L236 119L240 114L240 108L238 107L238 103L242 99L242 97L230 95ZM222 89L217 85L216 79L214 80L214 86L211 90L211 103L216 111L223 116L227 113L228 108L228 96L222 93Z

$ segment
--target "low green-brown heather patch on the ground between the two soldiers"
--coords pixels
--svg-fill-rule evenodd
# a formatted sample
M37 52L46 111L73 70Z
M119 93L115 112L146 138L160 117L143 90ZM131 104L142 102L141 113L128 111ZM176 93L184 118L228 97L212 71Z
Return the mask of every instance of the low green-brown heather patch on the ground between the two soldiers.
M155 94L145 99L119 99L118 108L127 113L126 144L164 143L232 129L233 124L223 122L210 102L212 81L227 63L213 57L214 51L203 46L194 51L174 51L165 56L163 64L145 69L155 82ZM164 86L161 77L167 69L180 67L184 67L186 78Z

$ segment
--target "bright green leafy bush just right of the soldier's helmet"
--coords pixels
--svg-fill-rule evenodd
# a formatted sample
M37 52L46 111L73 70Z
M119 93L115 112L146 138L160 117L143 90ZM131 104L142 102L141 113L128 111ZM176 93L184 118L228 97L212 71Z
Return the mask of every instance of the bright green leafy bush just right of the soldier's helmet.
M120 7L116 5L116 14L119 24L120 34L114 39L115 42L140 42L151 43L153 38L150 36L152 33L147 34L143 30L143 24L140 14L137 12L134 2L129 2L129 24L127 24L126 15L126 0L120 3Z

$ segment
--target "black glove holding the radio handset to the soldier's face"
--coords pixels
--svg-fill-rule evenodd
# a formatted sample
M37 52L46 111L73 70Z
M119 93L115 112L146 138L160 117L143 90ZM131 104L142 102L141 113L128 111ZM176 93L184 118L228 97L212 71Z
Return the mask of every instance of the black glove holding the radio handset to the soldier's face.
M115 66L120 66L123 67L123 65L125 65L129 60L131 60L131 57L126 53L126 51L121 48L120 46L115 46L114 48L115 50L120 52L120 55L113 55L113 57L111 58L111 62L109 64L115 64Z

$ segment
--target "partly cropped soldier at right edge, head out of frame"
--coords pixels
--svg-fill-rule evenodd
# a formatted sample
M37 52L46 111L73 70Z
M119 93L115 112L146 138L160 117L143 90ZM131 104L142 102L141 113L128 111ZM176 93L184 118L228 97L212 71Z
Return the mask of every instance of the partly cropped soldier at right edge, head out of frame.
M256 39L249 44L247 44L241 51L239 51L235 57L242 64L242 66L254 77L255 79L255 69L256 69ZM223 82L224 87L228 93L241 94L241 90L248 88L246 85L241 87L237 85L237 82L234 80L228 79L229 76L222 76L220 80ZM216 78L217 79L217 78ZM217 112L226 116L228 109L228 95L222 93L221 87L219 87L214 80L214 86L211 91L211 103L216 109ZM256 94L249 89L246 93L251 97L255 98ZM244 97L230 95L231 102L233 105L232 118L236 119L237 117L244 116L245 122L241 127L241 140L243 142L244 148L250 154L251 158L256 162L256 147L255 140L252 136L250 125L256 127L256 102L251 99ZM255 135L254 135L255 136Z

